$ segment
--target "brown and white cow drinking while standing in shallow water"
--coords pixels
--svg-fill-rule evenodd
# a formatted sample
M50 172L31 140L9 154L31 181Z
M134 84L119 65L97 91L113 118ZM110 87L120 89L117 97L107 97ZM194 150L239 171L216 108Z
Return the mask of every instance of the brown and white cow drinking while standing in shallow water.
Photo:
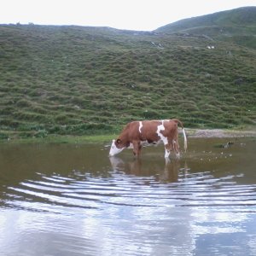
M113 140L109 156L119 154L125 148L133 148L133 154L139 156L143 143L163 142L166 149L165 157L168 158L173 149L179 156L177 142L177 125L183 130L184 150L187 149L187 137L183 124L178 119L134 121L125 125L116 140Z

